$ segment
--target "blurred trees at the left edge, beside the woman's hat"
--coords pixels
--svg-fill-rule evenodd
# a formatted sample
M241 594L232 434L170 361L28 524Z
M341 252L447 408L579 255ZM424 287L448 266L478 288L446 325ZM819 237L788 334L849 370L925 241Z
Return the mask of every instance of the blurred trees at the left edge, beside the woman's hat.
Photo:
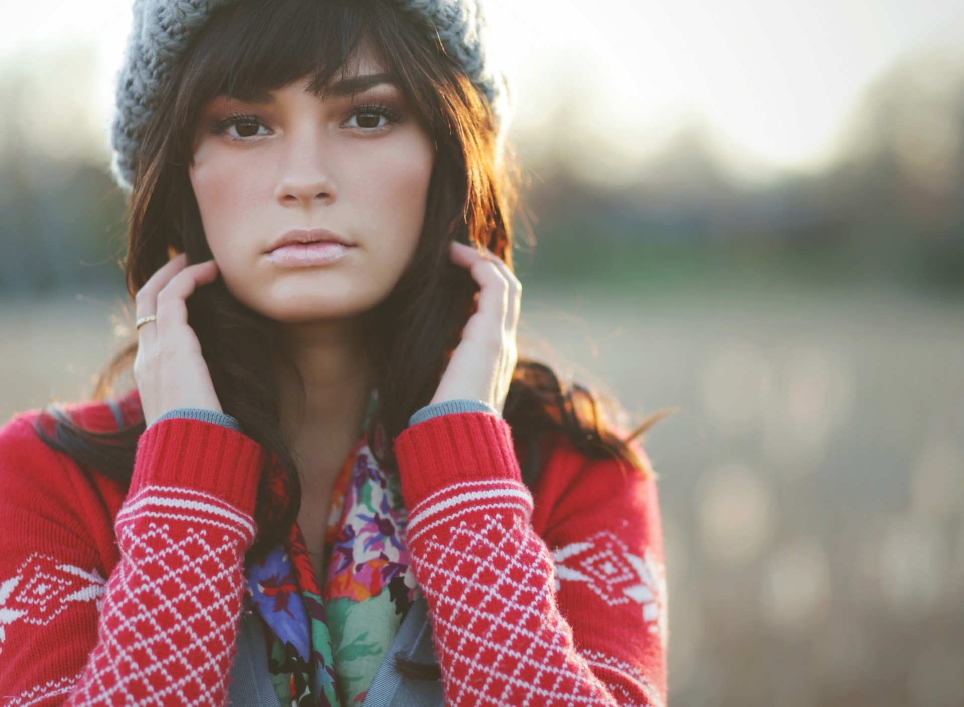
M91 110L94 69L84 50L0 65L0 293L122 285L123 197Z

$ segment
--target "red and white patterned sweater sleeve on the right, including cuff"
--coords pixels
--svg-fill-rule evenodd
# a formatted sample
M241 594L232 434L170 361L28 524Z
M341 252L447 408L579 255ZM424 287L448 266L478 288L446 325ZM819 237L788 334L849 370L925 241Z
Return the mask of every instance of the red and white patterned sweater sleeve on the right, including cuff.
M553 554L533 529L504 421L480 413L424 421L395 450L446 704L665 703L657 510L648 519L618 494L615 503L598 490L567 494L571 508L550 530ZM629 479L622 469L618 476Z

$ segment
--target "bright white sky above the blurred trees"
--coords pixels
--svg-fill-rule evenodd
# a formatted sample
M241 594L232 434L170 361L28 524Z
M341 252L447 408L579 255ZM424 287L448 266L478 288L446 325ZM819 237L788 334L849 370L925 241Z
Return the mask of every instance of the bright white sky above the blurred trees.
M826 158L874 77L907 53L964 45L960 0L488 0L519 140L560 122L631 160L686 124L736 153ZM130 0L0 0L0 59L96 47L108 121ZM561 96L567 96L560 101Z

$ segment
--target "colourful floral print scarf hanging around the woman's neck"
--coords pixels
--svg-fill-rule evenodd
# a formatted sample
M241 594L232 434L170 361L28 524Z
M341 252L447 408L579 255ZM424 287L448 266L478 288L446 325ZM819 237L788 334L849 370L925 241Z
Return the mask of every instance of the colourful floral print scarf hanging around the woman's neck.
M245 568L282 707L362 703L415 601L407 522L398 475L379 468L362 438L335 481L324 586L297 525L285 545Z

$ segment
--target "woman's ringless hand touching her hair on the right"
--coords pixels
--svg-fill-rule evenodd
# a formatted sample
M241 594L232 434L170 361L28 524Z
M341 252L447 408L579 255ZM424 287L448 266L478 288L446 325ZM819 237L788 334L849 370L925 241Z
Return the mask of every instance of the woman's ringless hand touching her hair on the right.
M490 251L479 253L470 246L453 242L449 257L456 265L467 268L482 290L478 308L469 317L432 402L460 398L481 400L501 414L519 359L516 328L522 284L509 266Z

